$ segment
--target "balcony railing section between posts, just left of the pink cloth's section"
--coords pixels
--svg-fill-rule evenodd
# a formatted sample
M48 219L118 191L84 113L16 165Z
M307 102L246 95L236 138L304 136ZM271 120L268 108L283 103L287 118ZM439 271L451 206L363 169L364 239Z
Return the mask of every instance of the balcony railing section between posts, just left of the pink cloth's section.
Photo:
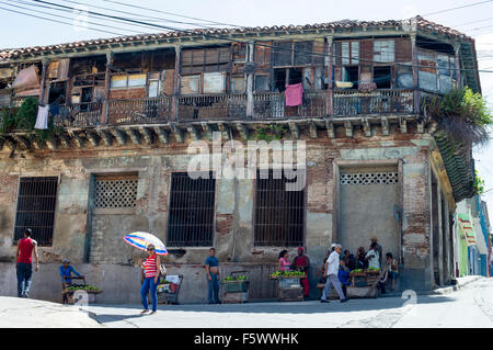
M244 120L246 95L234 93L177 97L179 121Z

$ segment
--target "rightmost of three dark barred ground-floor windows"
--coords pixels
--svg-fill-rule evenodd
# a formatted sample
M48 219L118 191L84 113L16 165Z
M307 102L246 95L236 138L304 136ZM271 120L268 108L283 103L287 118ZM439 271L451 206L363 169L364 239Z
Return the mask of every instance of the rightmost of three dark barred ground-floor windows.
M286 191L295 180L261 179L257 171L255 187L255 246L302 246L305 232L305 187L300 191Z

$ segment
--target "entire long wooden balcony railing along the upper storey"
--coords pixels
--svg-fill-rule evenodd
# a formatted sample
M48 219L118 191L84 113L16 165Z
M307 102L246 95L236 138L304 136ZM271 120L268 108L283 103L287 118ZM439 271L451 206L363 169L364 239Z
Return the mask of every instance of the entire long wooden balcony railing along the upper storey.
M415 93L417 93L415 99ZM306 91L303 103L286 106L284 93L259 92L250 101L246 94L202 94L129 100L108 100L60 105L54 123L65 127L102 124L147 124L168 122L221 120L285 120L326 117L328 101L332 95L334 118L368 114L413 114L421 111L423 100L440 97L438 93L412 89L385 89L372 92L358 90ZM414 103L417 105L415 106ZM14 105L8 106L14 109ZM416 111L416 112L415 112ZM1 113L0 113L1 114ZM0 115L1 117L1 115Z

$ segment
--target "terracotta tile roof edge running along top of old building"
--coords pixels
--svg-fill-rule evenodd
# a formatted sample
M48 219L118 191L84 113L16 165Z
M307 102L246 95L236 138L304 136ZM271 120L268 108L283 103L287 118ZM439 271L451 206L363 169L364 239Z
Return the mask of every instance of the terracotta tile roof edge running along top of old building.
M24 54L41 54L50 50L61 50L61 49L72 49L78 47L93 47L99 45L107 45L112 43L131 43L139 41L150 41L150 39L165 39L175 38L184 36L194 35L236 35L236 34L251 34L251 33L274 33L274 32L285 32L285 31L316 31L316 30L351 30L355 27L412 27L416 26L421 31L436 33L440 35L447 35L451 37L460 37L466 41L473 41L471 37L452 30L450 27L427 21L422 16L415 16L409 20L388 20L388 21L353 21L343 20L329 23L318 23L318 24L306 24L306 25L274 25L274 26L256 26L256 27L234 27L234 29L195 29L187 31L170 31L167 33L157 34L139 34L139 35L127 35L117 36L110 38L99 38L90 41L73 42L68 44L57 44L57 45L46 45L46 46L34 46L25 48L11 48L11 49L0 49L0 60L15 59L20 58Z

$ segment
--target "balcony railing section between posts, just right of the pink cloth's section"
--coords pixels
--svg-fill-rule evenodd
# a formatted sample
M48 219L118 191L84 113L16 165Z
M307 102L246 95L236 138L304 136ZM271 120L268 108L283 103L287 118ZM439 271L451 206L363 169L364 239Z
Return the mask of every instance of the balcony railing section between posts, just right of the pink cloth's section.
M413 90L334 90L334 115L413 113Z

